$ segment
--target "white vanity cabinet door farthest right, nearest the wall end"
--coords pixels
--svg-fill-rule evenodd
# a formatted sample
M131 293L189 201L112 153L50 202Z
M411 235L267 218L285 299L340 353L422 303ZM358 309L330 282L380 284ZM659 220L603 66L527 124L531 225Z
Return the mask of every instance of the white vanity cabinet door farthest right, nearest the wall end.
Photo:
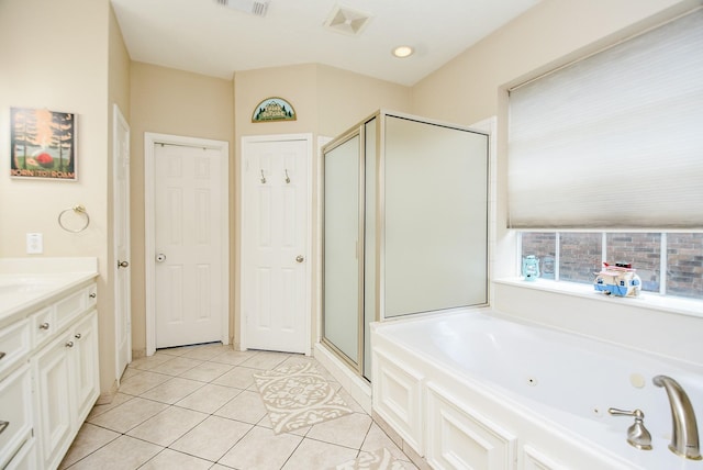
M76 392L75 427L78 428L88 416L100 394L98 376L98 315L91 312L75 328L69 339L71 365Z

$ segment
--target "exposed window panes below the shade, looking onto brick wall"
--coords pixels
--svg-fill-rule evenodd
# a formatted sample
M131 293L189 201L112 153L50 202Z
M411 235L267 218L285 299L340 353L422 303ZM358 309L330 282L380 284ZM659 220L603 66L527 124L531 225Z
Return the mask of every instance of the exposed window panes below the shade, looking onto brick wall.
M703 299L703 233L522 232L521 243L543 279L592 283L603 261L625 262L645 292Z

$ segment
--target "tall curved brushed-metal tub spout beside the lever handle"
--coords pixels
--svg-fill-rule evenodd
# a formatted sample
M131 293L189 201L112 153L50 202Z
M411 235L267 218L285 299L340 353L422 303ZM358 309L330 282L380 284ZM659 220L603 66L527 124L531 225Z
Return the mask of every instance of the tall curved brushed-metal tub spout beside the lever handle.
M663 387L669 396L671 421L673 422L669 449L687 459L701 460L699 428L695 424L695 413L689 395L685 394L679 382L670 377L657 376L651 381L657 387Z

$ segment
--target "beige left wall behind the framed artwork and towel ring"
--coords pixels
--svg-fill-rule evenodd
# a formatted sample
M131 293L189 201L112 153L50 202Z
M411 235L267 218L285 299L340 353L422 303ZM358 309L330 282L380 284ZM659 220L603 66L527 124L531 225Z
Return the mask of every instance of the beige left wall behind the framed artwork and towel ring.
M109 0L0 1L0 237L1 257L24 257L25 234L44 235L44 254L34 257L98 257L101 389L114 380L112 286L108 237ZM77 114L78 181L9 177L10 107L46 108ZM86 206L90 225L75 234L57 215Z

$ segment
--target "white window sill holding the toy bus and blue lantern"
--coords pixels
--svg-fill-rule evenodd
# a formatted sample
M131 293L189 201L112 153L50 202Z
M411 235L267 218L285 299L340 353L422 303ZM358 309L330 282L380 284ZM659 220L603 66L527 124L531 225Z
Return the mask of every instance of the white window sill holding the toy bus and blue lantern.
M515 286L524 289L535 289L546 292L555 292L566 295L576 295L580 298L594 299L602 302L624 302L628 305L638 305L643 309L658 310L668 313L677 313L681 315L703 317L703 300L684 299L657 295L651 292L643 292L636 298L624 298L615 295L606 295L596 292L592 284L580 284L576 282L559 282L547 279L537 279L535 281L525 281L522 278L502 278L495 279L493 282Z

